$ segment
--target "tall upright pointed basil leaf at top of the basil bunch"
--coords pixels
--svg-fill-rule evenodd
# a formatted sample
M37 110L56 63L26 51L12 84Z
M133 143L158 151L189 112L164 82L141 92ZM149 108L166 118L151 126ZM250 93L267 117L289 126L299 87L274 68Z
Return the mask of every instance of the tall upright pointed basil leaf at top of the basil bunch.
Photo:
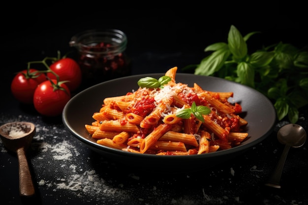
M247 55L247 44L240 31L233 25L228 34L228 46L235 59L243 59Z

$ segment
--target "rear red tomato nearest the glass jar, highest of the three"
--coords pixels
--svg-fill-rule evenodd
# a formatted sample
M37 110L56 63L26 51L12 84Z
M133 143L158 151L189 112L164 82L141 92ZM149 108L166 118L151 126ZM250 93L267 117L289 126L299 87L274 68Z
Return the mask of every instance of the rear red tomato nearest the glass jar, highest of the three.
M70 58L60 59L51 64L50 69L59 75L59 81L69 81L65 83L70 91L77 89L82 81L81 69L78 63ZM47 73L50 79L57 79L53 73Z

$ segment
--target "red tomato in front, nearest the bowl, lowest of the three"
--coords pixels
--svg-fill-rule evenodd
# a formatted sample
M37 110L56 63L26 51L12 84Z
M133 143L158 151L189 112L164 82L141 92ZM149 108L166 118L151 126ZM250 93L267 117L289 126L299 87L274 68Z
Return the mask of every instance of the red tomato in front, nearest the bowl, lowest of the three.
M57 80L51 81L47 80L39 84L33 95L35 110L47 117L61 115L65 104L70 99L70 91L65 84L57 86Z

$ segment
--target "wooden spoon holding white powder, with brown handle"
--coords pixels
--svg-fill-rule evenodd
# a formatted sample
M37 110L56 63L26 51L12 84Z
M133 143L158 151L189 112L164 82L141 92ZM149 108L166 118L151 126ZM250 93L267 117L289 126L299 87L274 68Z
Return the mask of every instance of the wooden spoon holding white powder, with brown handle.
M19 192L21 196L34 195L34 186L26 158L26 150L35 134L31 122L10 122L0 126L0 137L3 145L17 153L19 164Z

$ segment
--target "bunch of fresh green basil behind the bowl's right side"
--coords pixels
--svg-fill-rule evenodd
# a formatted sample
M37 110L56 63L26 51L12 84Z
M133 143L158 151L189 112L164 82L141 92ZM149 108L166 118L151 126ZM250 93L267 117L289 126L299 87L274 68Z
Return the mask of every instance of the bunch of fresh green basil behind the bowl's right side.
M298 109L308 104L308 51L279 42L248 54L247 40L233 25L228 43L209 45L212 52L200 64L188 65L194 74L216 76L255 88L272 100L277 118L288 117L291 123L299 118Z

